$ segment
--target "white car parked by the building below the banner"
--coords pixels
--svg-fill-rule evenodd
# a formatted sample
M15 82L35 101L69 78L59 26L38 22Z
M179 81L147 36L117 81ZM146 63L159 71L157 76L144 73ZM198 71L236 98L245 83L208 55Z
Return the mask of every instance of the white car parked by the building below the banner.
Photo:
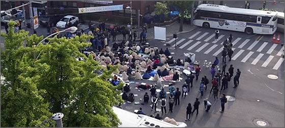
M79 18L72 15L67 15L63 17L58 23L56 23L56 27L59 28L68 28L71 26L77 26L79 23Z

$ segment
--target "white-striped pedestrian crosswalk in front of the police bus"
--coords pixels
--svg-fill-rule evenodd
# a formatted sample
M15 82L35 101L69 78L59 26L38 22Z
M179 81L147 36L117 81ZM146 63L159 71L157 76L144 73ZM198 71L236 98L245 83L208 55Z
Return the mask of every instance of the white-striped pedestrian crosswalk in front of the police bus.
M164 46L166 44L173 47L178 45L179 48L177 47L177 49L187 50L188 52L201 52L206 55L220 56L223 50L222 42L226 38L228 38L227 35L219 35L218 39L215 40L215 34L197 31L189 38L169 40ZM278 70L284 62L281 45L241 37L233 37L232 41L232 49L234 50L232 60L248 62L251 65L272 68L273 70Z

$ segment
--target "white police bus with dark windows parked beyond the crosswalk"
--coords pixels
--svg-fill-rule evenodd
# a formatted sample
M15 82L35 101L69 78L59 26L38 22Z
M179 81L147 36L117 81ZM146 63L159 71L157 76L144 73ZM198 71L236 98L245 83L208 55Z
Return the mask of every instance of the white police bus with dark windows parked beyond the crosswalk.
M195 10L193 23L246 34L272 35L277 29L277 12L202 4Z

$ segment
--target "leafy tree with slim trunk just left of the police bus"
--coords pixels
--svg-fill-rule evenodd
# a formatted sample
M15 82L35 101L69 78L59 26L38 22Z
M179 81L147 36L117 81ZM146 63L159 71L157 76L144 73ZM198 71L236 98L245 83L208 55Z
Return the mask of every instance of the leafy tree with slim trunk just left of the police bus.
M179 31L183 31L183 21L184 21L184 11L189 9L192 4L194 4L193 1L168 1L169 5L174 5L179 9L179 12L181 14L181 19L180 19L180 27Z

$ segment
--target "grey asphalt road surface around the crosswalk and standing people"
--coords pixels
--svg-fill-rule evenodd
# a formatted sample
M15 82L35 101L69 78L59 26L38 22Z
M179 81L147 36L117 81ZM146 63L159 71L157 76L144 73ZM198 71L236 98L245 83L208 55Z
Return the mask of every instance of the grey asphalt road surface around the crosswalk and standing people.
M199 33L198 31L201 32ZM206 66L203 67L204 61L208 60L213 62L215 56L218 56L221 61L220 53L218 52L217 54L216 52L222 47L220 43L225 38L227 38L229 34L233 34L233 42L235 42L235 40L237 39L240 39L239 41L236 41L235 45L233 46L233 48L235 48L233 57L240 50L244 51L240 55L237 55L235 60L227 62L227 68L229 67L229 65L232 64L234 65L235 72L236 69L240 69L242 73L240 77L240 85L238 86L238 88L237 89L233 88L233 81L231 81L229 83L229 89L224 91L224 93L226 95L234 97L236 100L233 102L229 101L228 103L226 103L225 112L220 113L219 112L221 109L220 101L214 103L213 95L210 94L209 91L206 91L204 94L205 95L204 98L209 98L209 101L212 103L210 111L206 113L203 104L201 104L200 114L198 114L198 116L194 114L191 117L191 120L186 122L187 125L191 127L192 126L247 127L247 126L257 126L255 125L256 124L255 119L263 119L267 121L268 126L283 127L284 126L284 121L283 121L284 120L284 104L283 104L284 103L284 95L283 95L284 63L283 61L280 61L278 64L279 59L283 60L282 56L279 55L280 53L278 53L281 49L281 46L280 45L275 46L273 43L271 43L270 41L270 39L272 38L271 36L260 36L260 35L249 36L244 33L226 31L226 30L220 30L220 36L222 35L224 36L215 43L214 37L211 38L211 35L214 34L214 31L215 31L214 29L197 28L191 31L190 33L178 35L177 43L180 42L180 40L182 39L185 40L181 41L179 43L179 46L177 46L175 50L172 50L172 52L175 52L175 54L173 54L172 56L176 59L178 58L183 59L184 58L183 53L187 52L195 53L196 54L195 60L200 61L200 66L202 67L202 74L200 76L206 75L208 76L208 78L210 78L211 74L209 68L206 68ZM202 35L205 36L202 37ZM283 42L283 34L280 34L280 36L281 36L281 42ZM169 42L170 40L172 40L173 37L167 37L167 38L168 38L167 42ZM192 40L192 42L187 45L187 42L190 40ZM258 40L258 42L256 41L257 43L253 43L255 42L255 40ZM198 43L195 46L195 43L197 43L198 41L200 41L201 43ZM244 41L246 41L247 43L244 43ZM157 45L159 48L163 49L166 48L166 46L163 46L165 42L161 42L158 40L151 40L149 42L152 46ZM264 42L267 42L268 44L264 46ZM173 41L170 44L174 45L175 41ZM205 44L207 44L207 46ZM242 44L243 46L241 46ZM252 44L256 45L252 47L251 46ZM271 48L273 45L275 48ZM215 48L213 48L212 50L208 50L211 47ZM206 51L208 51L208 53ZM248 57L246 61L241 62L245 58L245 56L249 54L249 52L251 53L253 52L252 55ZM262 57L260 59L256 59L257 56L262 56ZM273 56L271 61L267 60L269 56ZM254 61L254 59L256 60ZM265 62L268 63L268 65L264 64ZM267 77L267 75L269 74L274 74L278 76L278 79L277 80L269 79ZM185 80L185 76L182 77ZM141 82L142 81L139 81L139 83ZM143 81L143 82L147 84L154 83L151 81ZM164 82L164 84L168 83ZM181 89L182 84L183 82L177 83L175 87L179 87ZM174 112L168 113L163 117L168 116L171 118L175 118L177 121L184 121L184 119L186 118L185 110L187 104L188 103L193 104L195 98L197 97L200 98L200 93L198 92L199 82L194 81L193 84L194 85L190 89L190 93L187 95L186 99L181 99L180 106L174 106ZM138 91L137 89L135 89L135 84L131 84L131 87L132 87L131 92L133 92L134 94L138 94L138 97L135 98L135 101L139 101L139 99L143 98L145 92L150 93L149 90ZM167 87L165 89L168 90ZM169 94L167 94L167 97L168 96ZM204 99L200 98L200 102L202 102L203 100ZM149 105L150 103L148 105L133 105L133 103L132 104L126 103L125 105L122 105L122 107L123 109L132 112L135 109L139 109L139 107L142 107L143 110L148 115L154 114L154 112L150 110ZM168 109L168 106L166 109Z

